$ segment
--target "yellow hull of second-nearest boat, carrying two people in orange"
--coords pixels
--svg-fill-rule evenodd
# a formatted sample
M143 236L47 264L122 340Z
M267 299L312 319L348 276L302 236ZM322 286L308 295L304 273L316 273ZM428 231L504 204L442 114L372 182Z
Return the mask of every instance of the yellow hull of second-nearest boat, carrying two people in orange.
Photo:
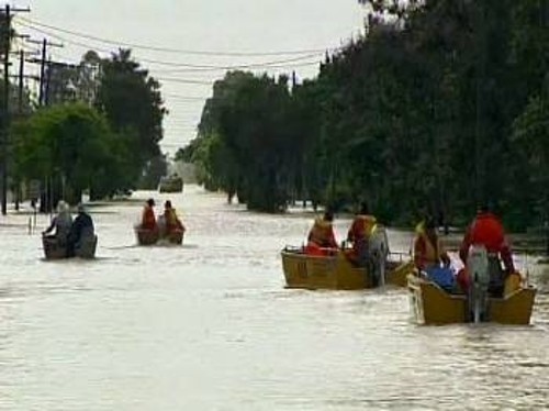
M352 265L344 251L317 256L306 255L303 248L287 247L281 255L287 288L360 290L376 287L367 269ZM412 270L412 262L388 262L385 284L405 287Z

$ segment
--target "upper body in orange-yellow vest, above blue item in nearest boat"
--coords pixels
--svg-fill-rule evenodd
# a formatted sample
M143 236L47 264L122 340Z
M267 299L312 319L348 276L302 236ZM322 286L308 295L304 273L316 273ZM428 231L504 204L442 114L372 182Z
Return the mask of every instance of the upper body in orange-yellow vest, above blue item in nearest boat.
M414 240L414 264L419 271L450 266L450 257L446 252L436 231L435 220L427 218L417 224Z

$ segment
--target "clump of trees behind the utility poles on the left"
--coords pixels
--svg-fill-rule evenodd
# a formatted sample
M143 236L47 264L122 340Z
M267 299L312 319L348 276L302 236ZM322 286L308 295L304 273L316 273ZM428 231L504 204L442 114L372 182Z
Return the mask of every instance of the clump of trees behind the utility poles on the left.
M130 49L108 58L90 51L77 65L48 62L42 87L42 104L29 89L21 103L10 92L8 170L18 200L31 182L40 185L42 211L61 197L75 204L83 191L97 200L156 187L167 168L159 147L167 111L159 82Z

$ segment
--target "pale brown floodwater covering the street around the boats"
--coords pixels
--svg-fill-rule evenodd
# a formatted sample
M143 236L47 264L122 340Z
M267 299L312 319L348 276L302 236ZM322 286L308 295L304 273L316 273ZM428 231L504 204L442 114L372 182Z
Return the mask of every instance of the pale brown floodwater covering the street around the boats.
M418 326L404 289L284 289L311 214L261 215L186 187L182 247L137 247L141 202L94 207L92 262L45 262L0 220L0 410L549 408L549 269L533 325ZM38 216L38 229L46 218ZM343 234L348 221L338 221ZM390 231L406 252L410 234Z

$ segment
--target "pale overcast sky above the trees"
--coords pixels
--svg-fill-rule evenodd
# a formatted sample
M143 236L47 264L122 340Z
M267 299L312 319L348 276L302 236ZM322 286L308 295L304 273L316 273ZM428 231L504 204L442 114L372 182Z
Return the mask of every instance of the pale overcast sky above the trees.
M358 36L365 16L357 0L18 0L10 4L31 9L15 13L18 32L63 44L49 48L54 60L78 63L88 49L109 56L132 45L135 59L161 84L169 114L160 146L170 155L195 137L212 85L227 68L270 75L295 70L298 80L312 78L325 51ZM33 47L38 46L25 46Z

